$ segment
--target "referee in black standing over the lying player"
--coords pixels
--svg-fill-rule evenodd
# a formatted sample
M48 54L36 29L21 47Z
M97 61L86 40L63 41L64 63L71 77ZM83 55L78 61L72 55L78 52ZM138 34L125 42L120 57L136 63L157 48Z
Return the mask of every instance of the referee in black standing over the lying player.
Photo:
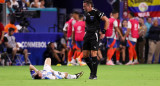
M85 11L85 36L83 44L83 58L86 61L88 67L90 68L90 77L89 79L97 79L97 51L99 47L99 31L100 31L100 21L105 22L104 29L107 30L109 25L109 20L103 12L100 12L97 9L94 9L92 0L83 1L83 9ZM105 31L103 35L105 34ZM91 53L91 58L90 57Z

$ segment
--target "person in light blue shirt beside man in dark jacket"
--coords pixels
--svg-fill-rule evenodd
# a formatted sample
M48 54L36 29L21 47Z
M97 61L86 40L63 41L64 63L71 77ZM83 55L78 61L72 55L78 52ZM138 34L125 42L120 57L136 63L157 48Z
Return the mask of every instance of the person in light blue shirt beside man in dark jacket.
M145 45L145 63L147 63L148 60L148 51L149 51L149 40L148 40L148 35L149 35L149 30L152 26L152 18L148 17L147 22L145 23L147 26L147 32L146 32L146 45Z

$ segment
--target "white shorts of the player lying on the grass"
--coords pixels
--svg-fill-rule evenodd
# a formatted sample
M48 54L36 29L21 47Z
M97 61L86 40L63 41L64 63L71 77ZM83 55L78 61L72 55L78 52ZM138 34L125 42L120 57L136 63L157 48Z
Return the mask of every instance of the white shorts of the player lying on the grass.
M65 73L64 72L54 71L51 68L51 66L49 66L49 65L44 65L43 70L53 71L57 79L64 79L65 78Z

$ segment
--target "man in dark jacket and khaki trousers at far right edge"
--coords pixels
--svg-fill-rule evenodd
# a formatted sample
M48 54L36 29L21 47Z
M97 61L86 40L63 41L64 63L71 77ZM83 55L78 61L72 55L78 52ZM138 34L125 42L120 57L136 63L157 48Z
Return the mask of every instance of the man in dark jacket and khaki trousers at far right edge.
M153 25L149 30L149 53L148 53L148 64L152 63L153 55L155 54L154 63L159 62L160 54L160 26L158 20L153 21Z

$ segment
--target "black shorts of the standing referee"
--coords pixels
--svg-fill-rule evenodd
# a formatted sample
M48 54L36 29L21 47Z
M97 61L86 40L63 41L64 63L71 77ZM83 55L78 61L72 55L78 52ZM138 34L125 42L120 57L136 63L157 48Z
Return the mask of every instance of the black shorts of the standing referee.
M99 36L98 33L86 33L83 42L83 50L95 50L99 48Z

